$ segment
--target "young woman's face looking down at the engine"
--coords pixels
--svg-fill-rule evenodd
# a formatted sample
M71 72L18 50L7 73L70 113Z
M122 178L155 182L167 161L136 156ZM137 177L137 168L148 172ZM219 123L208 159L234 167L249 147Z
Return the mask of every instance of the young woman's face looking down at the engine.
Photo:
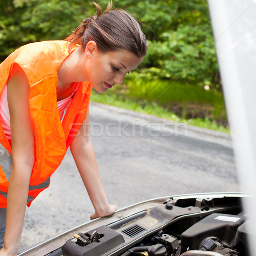
M84 62L84 74L93 88L105 93L115 84L122 84L125 75L143 60L127 50L101 53L90 49Z

